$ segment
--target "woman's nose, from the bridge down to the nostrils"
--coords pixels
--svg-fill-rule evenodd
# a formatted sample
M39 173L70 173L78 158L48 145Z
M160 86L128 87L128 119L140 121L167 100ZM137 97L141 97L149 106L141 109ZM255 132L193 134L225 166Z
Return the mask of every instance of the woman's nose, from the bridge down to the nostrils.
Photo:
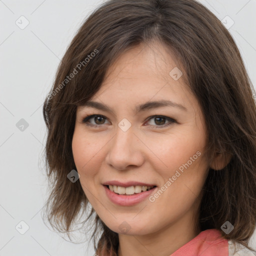
M126 131L117 127L116 134L108 143L106 163L118 170L141 166L144 161L143 146L132 126Z

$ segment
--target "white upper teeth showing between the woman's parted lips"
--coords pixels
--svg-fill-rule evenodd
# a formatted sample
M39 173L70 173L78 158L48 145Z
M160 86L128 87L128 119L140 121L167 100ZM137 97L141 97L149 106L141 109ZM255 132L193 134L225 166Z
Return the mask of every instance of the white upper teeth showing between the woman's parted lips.
M123 186L116 186L116 185L105 185L109 190L116 194L122 194L122 195L133 195L136 193L141 193L148 191L156 186L128 186L128 187L123 187Z

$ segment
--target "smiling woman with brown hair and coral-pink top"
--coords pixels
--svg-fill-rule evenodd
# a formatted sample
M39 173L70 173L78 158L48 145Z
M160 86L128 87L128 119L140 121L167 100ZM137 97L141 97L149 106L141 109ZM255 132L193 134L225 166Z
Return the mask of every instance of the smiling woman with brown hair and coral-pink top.
M99 256L255 252L252 90L234 40L202 4L102 4L44 102L52 226L69 231L91 205L84 225L95 213Z

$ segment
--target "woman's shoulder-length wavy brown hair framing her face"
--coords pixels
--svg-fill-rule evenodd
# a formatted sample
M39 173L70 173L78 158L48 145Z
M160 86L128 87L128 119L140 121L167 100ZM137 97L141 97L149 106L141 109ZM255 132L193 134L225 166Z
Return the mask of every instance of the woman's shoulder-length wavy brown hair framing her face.
M183 77L205 118L209 158L216 152L232 154L223 169L208 172L198 228L216 228L224 238L248 247L256 224L253 86L228 30L195 0L109 0L79 28L43 105L47 176L51 184L47 218L59 231L69 232L79 211L89 205L80 182L67 178L75 169L71 141L77 105L99 90L109 66L123 51L153 40L163 42L180 61ZM67 78L71 73L75 74ZM91 209L84 223L93 213ZM93 218L96 252L116 255L118 234L97 214ZM226 220L234 226L228 234L220 228ZM98 229L101 236L96 243Z

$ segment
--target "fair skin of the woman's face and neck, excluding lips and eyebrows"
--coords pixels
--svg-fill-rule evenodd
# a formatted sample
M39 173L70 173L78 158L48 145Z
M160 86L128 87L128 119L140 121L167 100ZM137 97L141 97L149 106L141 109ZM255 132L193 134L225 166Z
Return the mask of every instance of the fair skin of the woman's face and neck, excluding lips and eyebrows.
M220 156L213 165L204 155L203 115L183 77L174 80L169 75L174 67L182 69L166 46L136 46L116 59L90 99L111 111L77 107L72 152L79 181L101 220L118 233L119 256L167 256L194 238L208 168L224 166ZM185 109L161 106L135 112L137 105L155 100L171 100ZM95 126L87 126L82 120L91 114L104 118L91 117L87 123ZM153 115L163 119L148 118ZM131 124L126 131L118 126L123 118ZM145 198L123 206L106 195L102 183L108 180L138 180L155 184L157 191L197 151L200 156L153 202ZM119 227L123 221L128 232Z

